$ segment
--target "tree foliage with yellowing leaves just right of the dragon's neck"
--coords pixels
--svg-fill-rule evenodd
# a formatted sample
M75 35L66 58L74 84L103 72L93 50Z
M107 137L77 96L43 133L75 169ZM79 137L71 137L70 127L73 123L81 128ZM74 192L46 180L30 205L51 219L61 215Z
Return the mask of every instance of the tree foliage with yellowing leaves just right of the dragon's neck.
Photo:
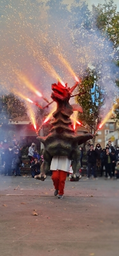
M104 91L102 91L98 85L98 76L94 70L91 70L90 68L87 69L87 72L78 87L79 93L82 92L82 88L87 93L76 97L76 102L83 107L83 113L78 113L78 118L83 125L89 125L90 132L95 133L101 122L99 112L103 106Z

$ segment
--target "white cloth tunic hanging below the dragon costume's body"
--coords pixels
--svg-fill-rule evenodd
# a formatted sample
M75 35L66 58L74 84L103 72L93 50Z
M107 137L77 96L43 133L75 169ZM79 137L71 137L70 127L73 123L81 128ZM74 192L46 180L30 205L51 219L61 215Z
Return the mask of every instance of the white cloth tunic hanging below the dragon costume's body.
M71 160L66 156L53 156L50 170L62 170L64 172L69 172L70 166Z

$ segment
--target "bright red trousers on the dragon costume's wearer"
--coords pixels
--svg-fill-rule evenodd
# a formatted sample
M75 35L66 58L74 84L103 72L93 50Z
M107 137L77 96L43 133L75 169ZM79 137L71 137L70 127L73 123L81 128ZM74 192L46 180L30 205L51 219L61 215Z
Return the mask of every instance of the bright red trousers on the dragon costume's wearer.
M64 186L67 177L67 172L57 170L52 171L53 186L59 190L59 195L64 195Z

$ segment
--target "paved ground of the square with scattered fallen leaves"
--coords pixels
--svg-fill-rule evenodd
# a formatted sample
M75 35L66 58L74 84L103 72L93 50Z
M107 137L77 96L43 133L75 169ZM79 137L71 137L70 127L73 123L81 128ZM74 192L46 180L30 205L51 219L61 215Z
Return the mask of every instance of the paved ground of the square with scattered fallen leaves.
M118 256L119 181L45 182L0 175L1 256ZM38 215L33 215L38 214Z

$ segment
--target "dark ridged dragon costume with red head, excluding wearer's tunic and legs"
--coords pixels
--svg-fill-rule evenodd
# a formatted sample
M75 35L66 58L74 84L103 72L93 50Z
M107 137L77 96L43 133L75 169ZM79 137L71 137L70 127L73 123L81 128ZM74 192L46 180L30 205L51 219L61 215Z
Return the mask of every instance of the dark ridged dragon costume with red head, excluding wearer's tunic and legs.
M72 127L70 116L74 110L82 111L77 104L71 106L69 99L71 93L78 83L72 88L62 86L62 84L52 84L52 99L57 102L57 110L53 113L52 129L46 137L38 136L38 140L44 145L43 164L41 165L41 175L45 175L50 170L53 156L67 156L73 161L73 173L78 173L80 169L80 148L79 145L93 138L92 134L76 134ZM39 179L41 179L39 175ZM38 177L37 177L38 178ZM43 178L42 178L43 179Z

